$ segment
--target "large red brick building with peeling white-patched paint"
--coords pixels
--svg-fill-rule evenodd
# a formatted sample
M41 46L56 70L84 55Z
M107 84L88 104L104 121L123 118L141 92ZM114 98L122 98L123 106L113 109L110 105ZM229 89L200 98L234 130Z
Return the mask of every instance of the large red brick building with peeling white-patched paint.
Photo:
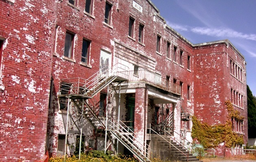
M245 58L230 41L189 42L150 0L0 5L0 161L46 150L168 156L158 134L192 142L191 117L226 123L227 100L247 143Z

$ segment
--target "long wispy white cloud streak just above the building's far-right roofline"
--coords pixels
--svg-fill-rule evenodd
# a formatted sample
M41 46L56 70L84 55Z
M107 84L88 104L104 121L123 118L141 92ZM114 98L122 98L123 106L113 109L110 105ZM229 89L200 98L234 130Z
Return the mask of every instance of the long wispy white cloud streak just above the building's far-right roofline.
M248 35L242 32L237 32L229 28L196 27L196 28L192 28L191 31L200 35L208 35L213 37L241 38L241 39L256 41L255 34Z

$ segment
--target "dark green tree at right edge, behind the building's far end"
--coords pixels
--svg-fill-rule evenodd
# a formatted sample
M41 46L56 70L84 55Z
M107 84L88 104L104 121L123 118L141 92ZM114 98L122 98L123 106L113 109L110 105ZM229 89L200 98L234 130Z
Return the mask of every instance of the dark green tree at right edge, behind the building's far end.
M248 137L256 138L256 97L247 85Z

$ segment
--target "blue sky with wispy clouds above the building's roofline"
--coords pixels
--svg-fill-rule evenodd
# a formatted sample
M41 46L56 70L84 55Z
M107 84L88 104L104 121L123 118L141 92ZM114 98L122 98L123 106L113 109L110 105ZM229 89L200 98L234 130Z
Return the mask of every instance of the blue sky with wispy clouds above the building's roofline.
M256 0L151 0L169 26L192 43L229 39L247 63L256 96Z

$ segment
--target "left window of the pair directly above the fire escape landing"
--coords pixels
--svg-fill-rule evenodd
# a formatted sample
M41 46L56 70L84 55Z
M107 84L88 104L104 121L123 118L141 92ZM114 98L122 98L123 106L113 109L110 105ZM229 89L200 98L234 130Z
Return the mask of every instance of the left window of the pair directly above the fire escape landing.
M74 48L74 34L71 32L66 32L65 38L65 50L64 56L72 58L73 57L73 48Z

